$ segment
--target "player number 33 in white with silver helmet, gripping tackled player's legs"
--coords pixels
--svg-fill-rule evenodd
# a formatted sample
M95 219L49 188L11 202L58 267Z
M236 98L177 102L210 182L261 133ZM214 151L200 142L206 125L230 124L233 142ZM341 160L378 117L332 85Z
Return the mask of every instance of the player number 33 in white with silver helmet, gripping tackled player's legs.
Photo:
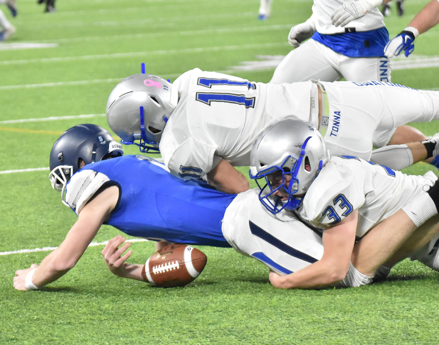
M277 287L334 284L352 264L367 276L370 273L356 265L355 250L351 257L356 238L367 237L390 216L416 228L438 213L439 183L434 173L409 176L354 156L330 158L317 129L301 120L267 127L255 141L250 160L250 177L256 179L259 199L270 212L297 210L303 219L324 229L319 262L284 277L270 274ZM437 230L436 216L427 231ZM384 235L385 228L382 231ZM424 254L429 249L424 248Z

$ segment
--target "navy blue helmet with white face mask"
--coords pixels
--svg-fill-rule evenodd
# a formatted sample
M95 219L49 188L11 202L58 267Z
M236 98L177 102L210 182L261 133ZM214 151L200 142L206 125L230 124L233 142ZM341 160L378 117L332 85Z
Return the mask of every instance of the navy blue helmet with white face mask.
M122 145L101 126L90 123L73 126L61 134L50 151L52 187L64 194L65 185L81 168L81 162L90 164L122 155Z

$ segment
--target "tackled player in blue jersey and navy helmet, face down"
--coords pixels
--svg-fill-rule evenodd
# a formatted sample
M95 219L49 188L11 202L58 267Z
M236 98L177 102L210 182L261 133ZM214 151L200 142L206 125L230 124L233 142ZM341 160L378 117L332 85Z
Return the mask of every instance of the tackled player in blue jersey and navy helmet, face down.
M223 194L194 181L178 179L149 158L117 157L121 154L121 147L110 134L95 125L74 126L55 142L50 154L53 168L50 180L54 188L61 190L62 201L78 214L78 220L40 266L32 264L28 269L16 271L14 288L37 289L67 273L103 223L155 241L231 245L281 274L299 270L321 257L322 241L313 227L286 212L273 216L259 202L256 189L237 196ZM365 258L367 262L363 264L369 270L384 262L414 230L404 227L400 219L389 218L380 226L386 230L385 234L379 233L379 241L374 236L365 237L371 243L376 242L372 252L380 247L377 243L387 244L373 258ZM420 230L417 234L421 234ZM421 248L430 237L424 235L407 250ZM121 236L115 237L104 248L107 265L116 275L143 280L142 265L123 263L132 253L129 251L121 258L130 246L126 243L118 249L124 241ZM367 241L361 245L371 253ZM435 256L436 253L432 255ZM362 259L357 261L361 263ZM364 284L355 267L349 272L344 286Z

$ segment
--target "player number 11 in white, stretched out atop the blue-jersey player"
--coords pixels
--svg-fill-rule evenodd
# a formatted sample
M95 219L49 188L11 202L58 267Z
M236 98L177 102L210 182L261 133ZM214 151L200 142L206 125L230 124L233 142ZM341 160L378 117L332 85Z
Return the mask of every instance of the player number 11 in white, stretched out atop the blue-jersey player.
M110 128L126 144L139 140L141 151L159 149L174 175L207 176L218 190L237 193L249 184L233 166L249 165L259 133L289 116L319 128L332 155L408 166L414 160L406 146L371 158L373 134L439 119L439 92L384 82L254 83L195 68L173 84L131 75L112 90L106 110Z

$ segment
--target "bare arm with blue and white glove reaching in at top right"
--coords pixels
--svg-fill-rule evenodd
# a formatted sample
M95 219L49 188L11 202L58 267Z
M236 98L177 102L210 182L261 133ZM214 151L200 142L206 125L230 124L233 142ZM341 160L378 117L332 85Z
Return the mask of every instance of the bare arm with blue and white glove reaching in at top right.
M414 39L439 23L439 1L432 0L410 21L407 28L390 40L384 54L388 58L398 56L404 51L406 57L414 50Z

